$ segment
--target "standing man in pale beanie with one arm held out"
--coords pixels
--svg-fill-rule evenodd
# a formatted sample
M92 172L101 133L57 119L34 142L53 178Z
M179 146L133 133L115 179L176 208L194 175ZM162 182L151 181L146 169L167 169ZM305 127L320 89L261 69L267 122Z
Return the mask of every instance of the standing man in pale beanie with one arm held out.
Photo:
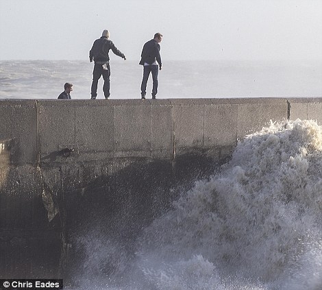
M90 99L96 99L97 97L97 83L99 82L99 78L103 75L103 92L106 99L110 97L110 57L108 56L108 52L112 49L113 53L116 56L120 56L126 60L125 55L119 51L112 43L112 40L109 40L110 32L108 30L104 30L101 38L95 40L92 45L92 49L90 49L90 62L94 60L94 69L92 71L92 87L90 89L91 97Z

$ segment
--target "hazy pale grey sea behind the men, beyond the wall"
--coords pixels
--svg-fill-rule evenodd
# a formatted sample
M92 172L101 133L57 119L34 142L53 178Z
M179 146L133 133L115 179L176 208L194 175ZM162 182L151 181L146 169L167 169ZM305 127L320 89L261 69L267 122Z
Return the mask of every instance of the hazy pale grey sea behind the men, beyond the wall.
M111 60L111 98L140 98L142 66ZM90 62L0 61L1 99L56 99L64 83L73 84L72 99L89 99ZM103 99L103 80L98 97ZM147 95L152 89L151 80ZM159 73L158 98L321 97L322 62L166 61Z

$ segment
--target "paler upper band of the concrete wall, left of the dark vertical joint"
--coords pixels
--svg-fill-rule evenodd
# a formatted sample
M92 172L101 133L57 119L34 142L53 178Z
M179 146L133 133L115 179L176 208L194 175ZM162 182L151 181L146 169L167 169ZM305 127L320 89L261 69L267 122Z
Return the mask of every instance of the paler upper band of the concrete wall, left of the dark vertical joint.
M233 147L288 117L286 99L5 100L0 112L0 140L15 141L12 165L63 162L54 158L63 148L75 150L68 162L174 158Z

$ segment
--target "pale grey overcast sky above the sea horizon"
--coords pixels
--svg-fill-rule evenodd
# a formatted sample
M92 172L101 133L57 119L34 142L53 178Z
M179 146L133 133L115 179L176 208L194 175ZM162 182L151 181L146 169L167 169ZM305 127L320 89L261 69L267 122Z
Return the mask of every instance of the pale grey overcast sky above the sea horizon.
M164 60L322 60L321 0L0 0L0 60L88 60L103 29L128 60L156 32Z

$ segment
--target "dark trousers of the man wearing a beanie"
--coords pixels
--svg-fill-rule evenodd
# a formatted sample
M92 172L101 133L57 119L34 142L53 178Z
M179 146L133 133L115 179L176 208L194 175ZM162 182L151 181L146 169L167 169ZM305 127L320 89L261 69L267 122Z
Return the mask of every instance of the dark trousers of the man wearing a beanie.
M91 99L96 99L97 96L97 84L99 79L103 75L103 92L104 97L107 99L110 97L110 64L94 64L94 69L92 71L92 87L90 88Z

